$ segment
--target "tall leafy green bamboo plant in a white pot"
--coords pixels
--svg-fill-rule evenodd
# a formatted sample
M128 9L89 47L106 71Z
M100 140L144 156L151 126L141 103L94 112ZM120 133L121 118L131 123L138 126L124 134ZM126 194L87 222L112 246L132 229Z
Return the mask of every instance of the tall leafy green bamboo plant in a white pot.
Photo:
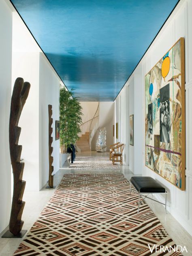
M73 96L73 89L68 91L65 88L60 89L60 166L62 167L67 160L67 148L75 145L79 139L82 124L82 107Z

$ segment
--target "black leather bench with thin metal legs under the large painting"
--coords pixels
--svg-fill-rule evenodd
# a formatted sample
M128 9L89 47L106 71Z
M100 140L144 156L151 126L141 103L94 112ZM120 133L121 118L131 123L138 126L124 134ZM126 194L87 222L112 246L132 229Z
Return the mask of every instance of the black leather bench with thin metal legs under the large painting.
M140 195L142 194L165 194L165 203L161 203L162 205L165 205L165 211L166 211L166 196L167 192L164 187L161 186L158 181L151 177L145 177L145 176L134 176L130 179L130 194L131 194L131 185L134 186L134 188L137 190L139 198L138 198L138 213L139 213L139 206L140 204L145 200L145 198L149 198L153 201L156 201L158 203L161 203L157 200L154 200L150 197L145 196L143 200L140 202ZM142 193L142 194L141 194Z

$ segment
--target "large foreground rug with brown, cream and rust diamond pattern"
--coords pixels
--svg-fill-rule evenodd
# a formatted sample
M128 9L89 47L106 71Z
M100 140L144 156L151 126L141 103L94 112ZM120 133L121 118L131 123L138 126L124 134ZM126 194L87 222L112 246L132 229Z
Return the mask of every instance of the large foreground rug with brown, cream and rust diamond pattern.
M122 174L65 174L14 255L150 256L175 243ZM166 213L165 213L166 214Z

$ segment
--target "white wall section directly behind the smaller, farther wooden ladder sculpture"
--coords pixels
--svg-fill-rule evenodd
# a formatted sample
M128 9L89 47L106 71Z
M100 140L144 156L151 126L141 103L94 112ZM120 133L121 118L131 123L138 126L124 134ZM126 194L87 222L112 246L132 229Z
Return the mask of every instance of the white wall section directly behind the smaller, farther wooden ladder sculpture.
M53 111L53 174L60 168L60 143L55 141L55 120L59 120L60 79L47 62L45 55L40 53L39 60L39 188L49 179L49 118L48 105Z

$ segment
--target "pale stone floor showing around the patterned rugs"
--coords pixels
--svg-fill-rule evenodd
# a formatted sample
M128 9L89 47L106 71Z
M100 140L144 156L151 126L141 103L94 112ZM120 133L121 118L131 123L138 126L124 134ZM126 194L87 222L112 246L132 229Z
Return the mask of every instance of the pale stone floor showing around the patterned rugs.
M98 153L95 151L77 153L78 156L107 156L109 153ZM111 164L111 163L110 163ZM90 170L89 173L123 173L124 176L129 179L133 174L129 170L128 166L123 165L120 170L108 169L108 170ZM65 173L85 173L84 170L74 170L74 169L60 169L54 177L55 185L60 183L63 175ZM87 172L86 172L87 173ZM23 195L23 200L26 201L25 208L23 210L22 220L24 221L23 229L30 230L32 224L38 218L38 215L45 207L47 201L52 196L54 189L45 189L41 191L25 191ZM166 229L170 237L175 241L177 245L186 246L188 253L183 252L184 256L192 255L192 237L186 232L186 230L173 218L170 213L165 213L165 209L159 203L146 200L146 203L157 215L158 219ZM13 256L13 253L17 249L18 245L21 243L22 239L9 239L1 238L0 234L0 256Z

